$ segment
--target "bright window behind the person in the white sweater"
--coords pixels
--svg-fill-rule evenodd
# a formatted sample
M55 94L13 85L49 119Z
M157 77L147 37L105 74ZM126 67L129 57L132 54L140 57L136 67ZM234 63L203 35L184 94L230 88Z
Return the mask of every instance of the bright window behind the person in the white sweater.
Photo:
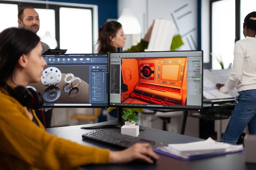
M255 0L211 0L211 60L212 69L221 69L217 57L222 57L224 68L234 60L235 40L244 38L245 16L255 11Z

